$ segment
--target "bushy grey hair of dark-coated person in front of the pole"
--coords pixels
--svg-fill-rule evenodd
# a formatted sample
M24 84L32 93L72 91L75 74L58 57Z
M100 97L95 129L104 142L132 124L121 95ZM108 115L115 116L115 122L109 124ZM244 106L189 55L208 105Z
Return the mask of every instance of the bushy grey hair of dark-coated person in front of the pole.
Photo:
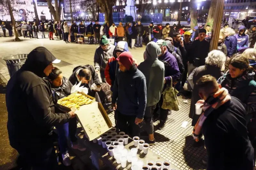
M212 50L205 58L205 64L216 65L219 68L222 68L225 61L226 55L220 50Z

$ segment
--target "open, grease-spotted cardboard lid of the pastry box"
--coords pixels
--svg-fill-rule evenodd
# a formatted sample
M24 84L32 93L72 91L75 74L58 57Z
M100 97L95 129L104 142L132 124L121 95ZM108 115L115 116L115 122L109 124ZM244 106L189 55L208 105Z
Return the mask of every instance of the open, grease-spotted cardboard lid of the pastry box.
M89 105L83 105L75 113L89 141L112 128L112 122L101 103L95 101Z

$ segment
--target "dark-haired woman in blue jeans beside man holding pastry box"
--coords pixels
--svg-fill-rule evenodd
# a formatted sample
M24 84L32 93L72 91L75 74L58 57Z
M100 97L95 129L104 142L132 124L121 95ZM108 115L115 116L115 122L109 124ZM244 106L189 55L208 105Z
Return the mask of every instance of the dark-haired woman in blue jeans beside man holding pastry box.
M62 71L55 67L49 76L46 78L52 87L53 103L56 105L59 99L67 97L71 93L72 84L65 78ZM70 166L71 161L68 154L68 137L70 137L72 149L85 151L85 148L79 145L76 137L76 118L70 119L67 123L56 126L58 131L60 152L62 154L62 163L65 166Z

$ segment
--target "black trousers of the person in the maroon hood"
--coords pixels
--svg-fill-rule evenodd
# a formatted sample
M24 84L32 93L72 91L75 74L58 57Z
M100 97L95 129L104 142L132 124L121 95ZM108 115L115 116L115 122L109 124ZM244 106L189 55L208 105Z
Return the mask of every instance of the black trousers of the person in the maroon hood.
M117 106L118 107L118 106ZM116 110L117 125L120 131L130 134L132 137L140 137L140 126L135 124L136 116L123 115Z

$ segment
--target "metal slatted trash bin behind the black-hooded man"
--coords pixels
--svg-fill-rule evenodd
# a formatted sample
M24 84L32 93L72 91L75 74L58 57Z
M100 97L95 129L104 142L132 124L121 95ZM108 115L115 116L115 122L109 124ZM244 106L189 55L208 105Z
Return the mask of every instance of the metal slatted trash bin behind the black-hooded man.
M25 63L27 56L28 54L16 54L3 58L6 62L10 77L20 70L21 66Z

